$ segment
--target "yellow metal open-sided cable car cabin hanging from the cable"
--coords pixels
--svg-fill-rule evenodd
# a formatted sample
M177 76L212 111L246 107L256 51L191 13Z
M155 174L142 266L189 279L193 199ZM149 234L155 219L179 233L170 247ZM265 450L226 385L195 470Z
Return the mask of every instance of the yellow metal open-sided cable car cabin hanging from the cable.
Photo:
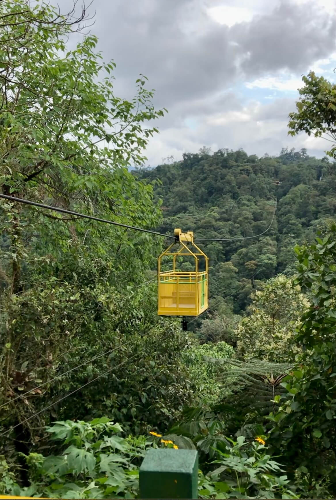
M158 315L199 316L208 308L208 257L195 244L192 231L174 230L175 241L158 258ZM173 246L179 243L177 249ZM180 271L180 260L190 257L192 271ZM169 270L166 261L169 262Z

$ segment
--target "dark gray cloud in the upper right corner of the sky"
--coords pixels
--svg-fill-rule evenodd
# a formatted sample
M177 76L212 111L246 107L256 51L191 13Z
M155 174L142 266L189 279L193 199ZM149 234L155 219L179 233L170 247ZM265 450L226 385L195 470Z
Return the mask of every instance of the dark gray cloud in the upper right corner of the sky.
M313 2L282 1L270 14L232 27L235 41L248 57L242 67L249 77L263 71L304 70L336 47L336 17Z

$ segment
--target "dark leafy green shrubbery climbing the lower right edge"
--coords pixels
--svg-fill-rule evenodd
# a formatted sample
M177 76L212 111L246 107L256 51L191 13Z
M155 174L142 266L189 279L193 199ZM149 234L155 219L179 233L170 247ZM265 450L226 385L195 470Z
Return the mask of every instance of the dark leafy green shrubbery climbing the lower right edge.
M330 474L333 484L336 409L335 236L334 225L323 239L317 238L316 244L296 247L300 262L298 282L310 290L313 300L303 315L296 339L305 350L300 362L283 382L286 394L275 417L273 430L274 445L283 448L292 463L298 463L296 450L300 447L305 457L300 460L300 465L305 466L315 479L321 474ZM282 431L284 428L285 434ZM324 456L323 464L321 456Z

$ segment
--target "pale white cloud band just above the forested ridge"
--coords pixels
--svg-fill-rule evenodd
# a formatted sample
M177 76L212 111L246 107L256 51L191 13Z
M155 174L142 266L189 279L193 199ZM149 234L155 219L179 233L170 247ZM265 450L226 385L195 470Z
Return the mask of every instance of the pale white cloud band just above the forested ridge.
M167 128L151 139L147 148L148 163L156 165L171 154L179 160L183 152L197 152L203 145L213 151L242 147L248 154L259 156L265 152L277 155L287 146L297 150L306 147L309 154L324 156L330 144L325 139L308 137L304 133L288 136L288 113L294 108L295 99L292 98L275 99L266 104L251 101L239 110L213 112L193 128Z

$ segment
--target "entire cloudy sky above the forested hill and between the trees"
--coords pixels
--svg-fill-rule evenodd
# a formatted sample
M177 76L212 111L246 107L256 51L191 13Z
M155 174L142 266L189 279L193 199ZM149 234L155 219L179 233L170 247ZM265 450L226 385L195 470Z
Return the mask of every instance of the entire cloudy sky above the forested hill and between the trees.
M91 32L117 64L116 94L129 97L142 72L169 111L149 165L203 145L324 155L327 141L290 137L287 123L303 74L336 81L336 0L93 0L94 10Z

